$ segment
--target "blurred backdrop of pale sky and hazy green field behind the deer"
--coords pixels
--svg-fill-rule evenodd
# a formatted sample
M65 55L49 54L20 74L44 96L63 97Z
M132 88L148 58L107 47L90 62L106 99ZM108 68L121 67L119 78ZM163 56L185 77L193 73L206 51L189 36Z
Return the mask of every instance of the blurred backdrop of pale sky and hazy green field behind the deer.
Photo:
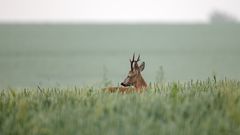
M237 0L2 0L0 88L240 79Z

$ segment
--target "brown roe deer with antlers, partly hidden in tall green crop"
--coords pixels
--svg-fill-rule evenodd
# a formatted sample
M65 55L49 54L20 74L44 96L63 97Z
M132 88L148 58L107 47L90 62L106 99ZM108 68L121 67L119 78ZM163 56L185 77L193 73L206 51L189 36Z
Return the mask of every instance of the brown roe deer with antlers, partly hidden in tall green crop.
M109 88L105 88L104 90L109 92L128 93L128 92L141 91L146 89L147 84L141 75L141 72L144 70L145 63L142 62L141 65L138 66L139 61L140 61L140 55L138 55L137 60L135 60L135 54L133 54L132 60L130 59L131 69L128 72L127 77L121 83L123 87L109 87Z

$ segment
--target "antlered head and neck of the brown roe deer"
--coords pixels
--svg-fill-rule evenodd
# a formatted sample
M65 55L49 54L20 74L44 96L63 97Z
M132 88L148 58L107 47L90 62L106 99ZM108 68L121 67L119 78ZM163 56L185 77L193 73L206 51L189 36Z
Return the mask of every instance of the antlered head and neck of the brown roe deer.
M142 62L142 64L138 66L139 61L140 55L138 55L137 60L135 60L135 54L133 54L132 60L130 59L131 70L128 72L126 79L121 83L122 86L134 86L136 89L147 87L147 84L141 75L141 72L144 70L145 63Z

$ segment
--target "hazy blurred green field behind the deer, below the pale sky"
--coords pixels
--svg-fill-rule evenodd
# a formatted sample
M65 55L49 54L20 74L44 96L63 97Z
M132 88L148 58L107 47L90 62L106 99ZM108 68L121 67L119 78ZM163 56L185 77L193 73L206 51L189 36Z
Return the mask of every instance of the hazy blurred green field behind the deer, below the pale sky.
M240 24L0 24L0 89L114 85L141 54L146 82L204 80L212 73L240 80ZM116 70L117 69L117 70Z

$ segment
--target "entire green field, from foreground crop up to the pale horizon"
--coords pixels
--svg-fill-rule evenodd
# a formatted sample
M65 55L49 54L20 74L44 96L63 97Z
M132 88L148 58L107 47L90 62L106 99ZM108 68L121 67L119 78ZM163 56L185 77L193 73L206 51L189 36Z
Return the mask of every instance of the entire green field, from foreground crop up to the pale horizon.
M0 135L238 135L239 35L239 24L0 24ZM155 83L104 92L134 52Z

